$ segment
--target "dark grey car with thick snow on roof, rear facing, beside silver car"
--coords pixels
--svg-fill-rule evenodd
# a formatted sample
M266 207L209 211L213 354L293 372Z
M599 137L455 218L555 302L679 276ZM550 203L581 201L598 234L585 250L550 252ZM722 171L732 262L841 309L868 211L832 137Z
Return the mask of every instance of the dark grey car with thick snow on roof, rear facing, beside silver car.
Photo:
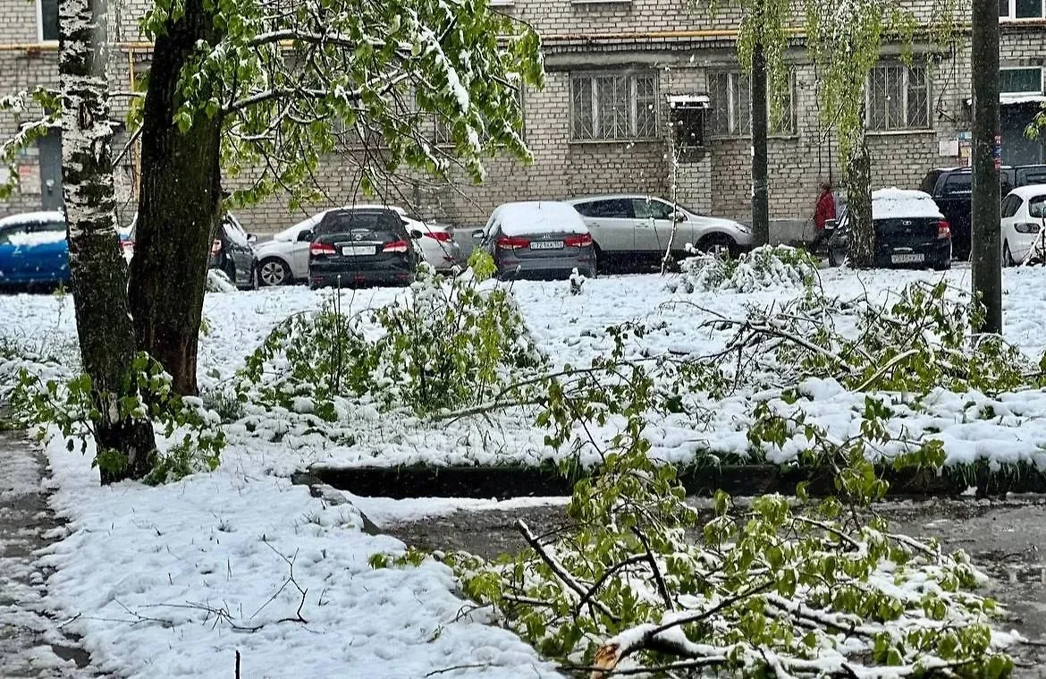
M567 203L499 205L473 237L491 253L502 280L565 278L574 269L590 278L596 275L592 234L582 216Z

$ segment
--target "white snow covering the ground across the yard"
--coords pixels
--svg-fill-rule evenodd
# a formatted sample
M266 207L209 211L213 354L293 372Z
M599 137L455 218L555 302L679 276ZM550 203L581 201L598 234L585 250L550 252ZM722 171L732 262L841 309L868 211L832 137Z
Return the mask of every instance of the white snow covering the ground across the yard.
M969 269L945 274L969 287ZM907 282L937 280L929 272L822 271L831 294L885 297ZM1005 272L1006 338L1038 360L1046 347L1046 269ZM656 275L607 276L585 282L579 295L567 282L513 287L528 327L553 364L587 364L612 340L607 326L633 319L656 321L643 339L651 353L701 352L722 346L725 334L697 331L702 308L737 317L750 302L769 303L795 290L677 295ZM208 334L201 339L201 382L229 380L245 356L288 316L317 308L333 293L303 288L209 294ZM394 290L343 293L345 307L384 304ZM0 297L0 335L69 356L74 338L71 300L50 295ZM859 427L856 398L837 385L811 384L812 416L834 431ZM978 399L947 392L931 399L918 424L933 426L952 461L992 457L1042 461L1046 395L1024 392L996 407L998 422L967 417ZM695 451L743 451L744 397L717 408L709 430L683 422L653 423L653 454L688 461ZM914 416L914 414L913 414ZM249 420L249 418L248 418ZM914 420L911 422L915 422ZM911 424L911 422L909 424ZM1020 423L1020 426L1014 426ZM58 569L47 605L85 636L98 670L124 677L231 677L234 655L242 676L550 676L553 669L508 632L484 624L455 593L451 572L434 563L373 569L376 552L404 546L361 529L348 504L310 496L292 485L291 472L315 463L395 465L533 462L554 457L524 413L433 425L361 409L355 442L336 444L305 433L294 413L255 415L227 427L230 446L211 474L160 488L122 483L99 488L87 457L61 442L47 454L54 472L52 502L70 523L68 535L45 557ZM781 451L787 455L788 451ZM446 510L446 503L360 500L384 520ZM293 570L292 570L293 568ZM293 575L293 578L292 578Z

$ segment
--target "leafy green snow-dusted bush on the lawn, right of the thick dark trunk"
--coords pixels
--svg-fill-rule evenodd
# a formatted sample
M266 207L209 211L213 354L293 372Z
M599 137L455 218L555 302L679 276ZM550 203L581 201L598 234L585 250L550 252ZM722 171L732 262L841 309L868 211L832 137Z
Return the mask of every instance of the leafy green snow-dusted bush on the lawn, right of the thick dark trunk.
M425 270L387 307L348 314L336 294L319 313L291 317L248 357L241 390L247 399L258 385L262 403L295 410L305 400L327 421L336 398L433 414L482 404L514 371L543 364L505 290L481 290L469 272L448 280Z

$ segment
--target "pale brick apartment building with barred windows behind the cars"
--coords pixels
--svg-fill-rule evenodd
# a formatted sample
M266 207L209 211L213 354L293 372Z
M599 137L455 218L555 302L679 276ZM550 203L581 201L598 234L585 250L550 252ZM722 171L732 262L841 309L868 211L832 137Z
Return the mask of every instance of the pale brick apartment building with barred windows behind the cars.
M0 16L0 95L56 80L59 0L8 2ZM111 0L116 17L113 89L147 65L137 17L149 0ZM913 0L931 12L928 0ZM1003 161L1042 162L1041 141L1023 129L1044 97L1046 0L1001 0ZM9 6L9 5L14 6ZM644 191L669 197L699 211L746 219L749 213L749 87L735 53L736 9L714 18L688 0L492 0L498 10L533 25L545 42L547 85L523 93L528 166L498 158L482 186L408 182L399 202L460 224L485 221L501 202L595 193ZM868 88L869 145L877 186L916 187L933 166L963 162L962 133L970 130L969 36L955 50L915 45L911 67L899 47L886 47ZM771 216L793 227L808 221L817 184L838 181L831 129L817 114L817 69L797 42L784 115L770 140ZM114 117L126 111L114 100ZM16 116L0 114L0 135ZM674 127L675 123L675 127ZM672 130L682 128L696 148L676 155ZM117 153L122 146L118 135ZM0 214L61 205L61 152L56 136L21 159L23 186ZM338 158L324 163L320 181L337 202L361 200L344 179ZM134 153L118 171L124 220L134 209ZM246 210L252 230L272 231L298 214L281 201ZM781 225L783 226L783 224Z

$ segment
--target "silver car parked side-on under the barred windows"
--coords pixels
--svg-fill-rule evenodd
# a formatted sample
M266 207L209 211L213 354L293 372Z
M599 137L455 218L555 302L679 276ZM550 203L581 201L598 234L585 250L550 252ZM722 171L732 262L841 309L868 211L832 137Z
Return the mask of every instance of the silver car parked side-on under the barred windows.
M652 196L590 196L565 202L585 219L600 262L616 258L659 263L669 241L673 252L680 258L686 256L687 244L705 252L729 252L733 256L752 247L752 231L748 226L698 214Z

